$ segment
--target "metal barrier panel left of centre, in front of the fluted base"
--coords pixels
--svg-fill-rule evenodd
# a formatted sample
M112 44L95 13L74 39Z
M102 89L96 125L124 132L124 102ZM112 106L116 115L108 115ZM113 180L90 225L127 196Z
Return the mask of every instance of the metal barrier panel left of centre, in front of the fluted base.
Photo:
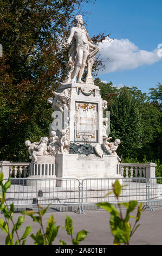
M6 182L4 180L4 182ZM6 192L7 204L77 205L80 210L80 181L72 178L11 179Z

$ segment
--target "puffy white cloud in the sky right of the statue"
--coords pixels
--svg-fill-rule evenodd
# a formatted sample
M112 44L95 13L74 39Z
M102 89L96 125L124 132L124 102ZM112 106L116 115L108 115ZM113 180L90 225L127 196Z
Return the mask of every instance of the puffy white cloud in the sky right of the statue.
M151 65L162 59L162 56L159 57L158 48L152 52L140 50L138 46L128 39L105 40L103 44L99 45L99 48L100 58L106 66L105 70L101 71L100 74L135 69L138 66ZM110 61L108 61L108 58Z

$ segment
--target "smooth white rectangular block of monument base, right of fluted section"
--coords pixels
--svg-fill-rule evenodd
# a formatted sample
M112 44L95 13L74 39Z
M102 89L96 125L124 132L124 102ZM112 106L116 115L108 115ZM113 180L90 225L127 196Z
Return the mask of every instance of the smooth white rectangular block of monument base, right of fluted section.
M116 156L103 155L100 158L96 155L78 154L57 154L56 177L57 178L115 178L117 177Z

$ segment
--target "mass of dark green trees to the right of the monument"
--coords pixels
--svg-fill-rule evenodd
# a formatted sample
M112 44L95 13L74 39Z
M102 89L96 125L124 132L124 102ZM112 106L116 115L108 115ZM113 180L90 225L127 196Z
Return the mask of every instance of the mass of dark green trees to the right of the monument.
M159 159L161 162L161 84L151 88L150 95L137 87L118 89L112 82L103 83L99 78L95 84L100 87L101 96L108 102L113 139L120 138L118 155L132 159L132 163ZM124 161L125 161L124 160Z

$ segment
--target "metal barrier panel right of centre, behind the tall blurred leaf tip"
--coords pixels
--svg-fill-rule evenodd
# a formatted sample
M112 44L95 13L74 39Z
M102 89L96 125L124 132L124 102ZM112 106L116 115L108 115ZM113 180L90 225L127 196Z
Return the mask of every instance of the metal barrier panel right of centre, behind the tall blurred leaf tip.
M138 200L147 205L147 180L145 178L116 178L119 180L122 191L119 197L120 202ZM113 190L114 178L86 178L82 180L81 209L86 204L96 204L99 202L109 202L116 204L118 201L114 193L108 194ZM108 194L107 196L105 196Z

